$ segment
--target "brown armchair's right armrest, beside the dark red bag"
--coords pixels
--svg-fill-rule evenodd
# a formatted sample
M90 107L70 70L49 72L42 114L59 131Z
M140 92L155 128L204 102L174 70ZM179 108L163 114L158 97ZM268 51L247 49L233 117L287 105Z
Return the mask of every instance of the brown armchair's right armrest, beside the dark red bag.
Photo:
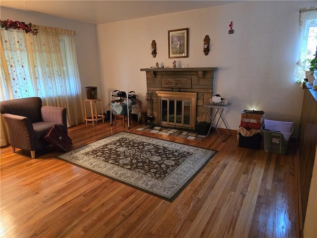
M67 133L66 108L42 106L41 113L43 121L63 124Z

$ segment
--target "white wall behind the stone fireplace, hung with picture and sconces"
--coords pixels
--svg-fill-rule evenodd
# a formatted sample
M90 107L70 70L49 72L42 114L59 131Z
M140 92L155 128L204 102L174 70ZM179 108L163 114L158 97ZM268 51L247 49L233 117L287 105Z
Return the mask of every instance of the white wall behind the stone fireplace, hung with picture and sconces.
M232 103L224 113L229 128L239 127L241 110L256 109L267 119L294 120L297 136L303 101L293 76L298 10L314 5L316 1L245 1L98 25L104 104L114 89L133 90L144 99L146 73L140 68L156 62L171 67L167 31L189 28L189 57L176 60L188 67L219 67L214 92ZM205 35L211 38L208 56L203 53ZM152 40L157 43L156 58L150 51Z

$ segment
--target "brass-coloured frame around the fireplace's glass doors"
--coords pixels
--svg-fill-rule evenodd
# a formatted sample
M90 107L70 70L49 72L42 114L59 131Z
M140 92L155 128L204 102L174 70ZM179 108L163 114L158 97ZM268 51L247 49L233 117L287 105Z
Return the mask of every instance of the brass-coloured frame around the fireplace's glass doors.
M171 91L157 91L157 123L161 126L172 127L172 128L184 128L189 130L196 129L196 104L197 104L197 93L191 92L171 92ZM161 102L162 100L167 100L167 102L174 101L182 101L182 105L184 102L190 102L190 123L176 123L167 121L162 121L162 113L161 113ZM176 112L176 111L175 111ZM168 118L168 116L167 116ZM183 118L183 116L182 116ZM176 117L175 117L176 120ZM182 119L183 122L183 119Z

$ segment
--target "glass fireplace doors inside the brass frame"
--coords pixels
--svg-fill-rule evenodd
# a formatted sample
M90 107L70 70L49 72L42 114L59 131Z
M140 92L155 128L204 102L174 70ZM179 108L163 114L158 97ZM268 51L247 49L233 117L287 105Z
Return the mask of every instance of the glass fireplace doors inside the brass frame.
M186 100L161 100L161 122L190 125L191 102Z

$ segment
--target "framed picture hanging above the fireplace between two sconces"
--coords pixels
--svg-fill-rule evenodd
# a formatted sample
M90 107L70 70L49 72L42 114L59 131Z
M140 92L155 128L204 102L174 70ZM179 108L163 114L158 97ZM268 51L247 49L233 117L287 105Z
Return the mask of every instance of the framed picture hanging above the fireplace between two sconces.
M188 57L188 28L168 31L168 58Z

